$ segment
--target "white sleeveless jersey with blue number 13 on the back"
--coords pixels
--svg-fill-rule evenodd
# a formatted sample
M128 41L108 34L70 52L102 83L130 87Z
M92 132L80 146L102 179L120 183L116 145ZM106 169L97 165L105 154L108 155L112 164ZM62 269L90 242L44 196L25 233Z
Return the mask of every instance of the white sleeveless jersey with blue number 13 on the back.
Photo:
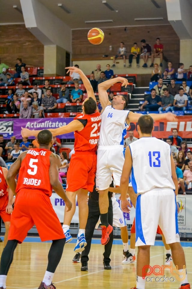
M143 137L129 145L133 160L131 183L138 194L153 189L171 188L170 145L158 138Z

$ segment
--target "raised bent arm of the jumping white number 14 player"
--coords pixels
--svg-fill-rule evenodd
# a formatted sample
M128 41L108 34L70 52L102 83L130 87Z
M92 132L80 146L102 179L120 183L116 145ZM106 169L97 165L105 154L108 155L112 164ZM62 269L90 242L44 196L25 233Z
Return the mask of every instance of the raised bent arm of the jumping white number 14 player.
M122 86L125 85L125 87L128 85L128 80L120 76L113 78L113 79L106 80L98 84L99 101L101 102L101 106L103 107L103 110L105 109L107 105L111 105L111 102L109 101L109 97L107 94L107 89L109 89L111 85L117 82L121 82Z

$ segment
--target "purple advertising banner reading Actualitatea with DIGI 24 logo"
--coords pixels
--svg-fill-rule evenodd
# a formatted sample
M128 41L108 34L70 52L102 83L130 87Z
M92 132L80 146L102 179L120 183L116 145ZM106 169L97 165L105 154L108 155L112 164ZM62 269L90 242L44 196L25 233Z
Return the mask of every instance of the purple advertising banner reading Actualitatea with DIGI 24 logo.
M5 139L15 136L16 139L22 139L21 127L27 129L57 129L66 126L73 120L71 117L66 118L32 118L32 119L4 119L0 120L0 134ZM33 138L33 137L30 137ZM74 133L66 133L60 135L59 138L74 138Z

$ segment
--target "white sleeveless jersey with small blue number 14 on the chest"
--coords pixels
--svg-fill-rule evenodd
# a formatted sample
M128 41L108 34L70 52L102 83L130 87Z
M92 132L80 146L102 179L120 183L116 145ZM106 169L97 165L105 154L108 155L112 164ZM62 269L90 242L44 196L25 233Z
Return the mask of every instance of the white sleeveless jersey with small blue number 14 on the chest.
M118 110L108 105L101 113L99 145L124 145L129 110Z

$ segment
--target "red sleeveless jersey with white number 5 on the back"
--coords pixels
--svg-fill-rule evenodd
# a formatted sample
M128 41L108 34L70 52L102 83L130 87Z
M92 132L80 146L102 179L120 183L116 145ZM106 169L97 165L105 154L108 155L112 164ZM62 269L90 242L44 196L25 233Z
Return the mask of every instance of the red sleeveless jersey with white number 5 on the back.
M52 186L49 181L51 151L44 148L30 149L22 160L19 170L19 178L16 193L25 189L29 191L42 191L49 197L52 194Z

